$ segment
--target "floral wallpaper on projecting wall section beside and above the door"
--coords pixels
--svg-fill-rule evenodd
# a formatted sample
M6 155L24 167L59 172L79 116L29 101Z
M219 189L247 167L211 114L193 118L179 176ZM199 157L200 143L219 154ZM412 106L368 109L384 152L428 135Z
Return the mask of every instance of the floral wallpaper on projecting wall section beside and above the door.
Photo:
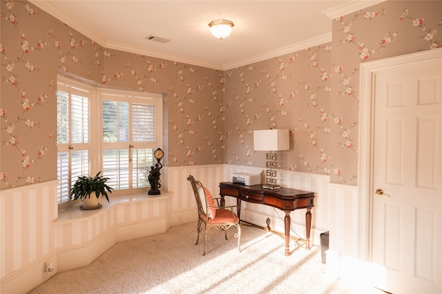
M385 1L333 20L333 182L357 183L360 63L440 48L441 25L442 1Z

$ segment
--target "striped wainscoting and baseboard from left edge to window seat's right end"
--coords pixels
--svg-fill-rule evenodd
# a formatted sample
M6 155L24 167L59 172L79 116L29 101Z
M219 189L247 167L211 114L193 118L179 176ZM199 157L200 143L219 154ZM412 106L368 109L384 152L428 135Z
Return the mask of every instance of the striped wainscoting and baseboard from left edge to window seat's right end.
M90 211L57 211L57 180L0 192L0 293L26 293L58 271L90 264L117 242L171 226L167 191L111 196ZM54 271L44 276L47 262Z

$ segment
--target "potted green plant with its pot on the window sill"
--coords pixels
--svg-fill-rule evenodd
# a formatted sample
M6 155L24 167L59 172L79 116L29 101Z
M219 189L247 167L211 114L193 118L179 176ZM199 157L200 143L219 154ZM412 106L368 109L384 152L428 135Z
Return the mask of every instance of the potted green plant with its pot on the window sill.
M99 209L102 207L99 204L99 196L106 197L109 202L108 192L112 193L113 188L106 185L109 178L104 178L99 176L102 171L94 177L91 176L79 176L77 182L70 189L70 199L77 200L80 199L84 201L84 204L80 209ZM95 197L90 197L91 194L95 194Z

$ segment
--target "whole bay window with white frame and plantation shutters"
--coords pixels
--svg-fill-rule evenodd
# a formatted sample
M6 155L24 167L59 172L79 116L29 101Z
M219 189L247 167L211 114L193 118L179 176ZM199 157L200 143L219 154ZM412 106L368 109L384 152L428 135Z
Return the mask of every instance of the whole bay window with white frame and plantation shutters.
M73 206L78 176L110 178L111 196L148 191L153 151L162 143L162 96L109 90L59 76L57 175L59 209Z

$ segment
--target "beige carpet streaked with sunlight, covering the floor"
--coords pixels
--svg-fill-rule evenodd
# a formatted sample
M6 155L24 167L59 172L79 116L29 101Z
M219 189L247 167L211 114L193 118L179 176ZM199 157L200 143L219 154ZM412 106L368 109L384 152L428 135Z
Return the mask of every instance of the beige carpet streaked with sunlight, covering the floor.
M57 273L30 293L383 293L327 277L317 246L307 251L291 241L285 256L284 238L262 229L242 225L240 253L235 231L229 229L226 241L222 231L211 229L205 256L202 235L195 246L196 223L120 242L92 264Z

